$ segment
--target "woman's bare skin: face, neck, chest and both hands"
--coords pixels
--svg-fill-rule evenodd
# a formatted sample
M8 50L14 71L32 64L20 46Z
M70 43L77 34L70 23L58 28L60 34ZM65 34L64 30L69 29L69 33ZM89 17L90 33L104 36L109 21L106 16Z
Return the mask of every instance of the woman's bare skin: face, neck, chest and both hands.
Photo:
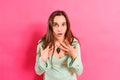
M54 18L53 25L53 35L55 36L55 51L52 53L53 48L49 48L49 45L43 50L41 49L41 58L44 62L47 61L48 57L53 54L56 58L62 58L66 54L70 55L73 60L77 57L77 49L73 48L67 40L64 40L65 33L67 31L66 19L64 16L56 16ZM56 48L59 47L61 49L60 53L56 52Z

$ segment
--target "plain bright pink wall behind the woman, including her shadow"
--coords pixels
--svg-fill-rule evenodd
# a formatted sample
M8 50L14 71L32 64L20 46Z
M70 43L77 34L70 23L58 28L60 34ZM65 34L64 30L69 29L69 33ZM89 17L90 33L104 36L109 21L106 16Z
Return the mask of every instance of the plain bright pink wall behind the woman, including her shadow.
M65 10L81 42L78 80L120 80L119 0L0 0L0 80L41 80L37 41L54 10Z

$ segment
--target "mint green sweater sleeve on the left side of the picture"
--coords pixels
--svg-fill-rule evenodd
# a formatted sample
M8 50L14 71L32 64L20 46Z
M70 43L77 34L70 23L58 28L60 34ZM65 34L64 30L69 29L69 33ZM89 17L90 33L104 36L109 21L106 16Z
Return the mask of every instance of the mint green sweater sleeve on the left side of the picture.
M41 75L50 67L50 63L49 63L48 59L47 59L46 63L44 63L41 59L41 56L40 56L40 46L41 45L42 45L42 42L39 41L39 43L37 45L36 62L35 62L35 72L38 75Z

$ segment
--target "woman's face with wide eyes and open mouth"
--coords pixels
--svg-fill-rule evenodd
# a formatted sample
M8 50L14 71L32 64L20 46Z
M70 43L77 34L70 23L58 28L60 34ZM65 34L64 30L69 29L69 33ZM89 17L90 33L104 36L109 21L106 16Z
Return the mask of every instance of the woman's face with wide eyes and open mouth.
M63 15L55 16L52 27L53 27L53 35L58 40L63 40L67 30L67 23L65 17Z

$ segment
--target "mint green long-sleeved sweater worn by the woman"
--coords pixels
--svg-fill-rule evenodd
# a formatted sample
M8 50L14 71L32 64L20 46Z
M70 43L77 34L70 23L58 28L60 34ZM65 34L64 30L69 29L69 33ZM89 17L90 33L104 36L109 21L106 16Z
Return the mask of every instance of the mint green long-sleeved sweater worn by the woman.
M80 45L76 39L73 40L72 46L77 48L78 55L73 61L69 55L57 58L54 55L47 59L44 63L40 56L40 46L43 41L39 41L37 45L35 72L38 75L44 73L44 80L77 80L76 74L80 75L83 71L81 61Z

